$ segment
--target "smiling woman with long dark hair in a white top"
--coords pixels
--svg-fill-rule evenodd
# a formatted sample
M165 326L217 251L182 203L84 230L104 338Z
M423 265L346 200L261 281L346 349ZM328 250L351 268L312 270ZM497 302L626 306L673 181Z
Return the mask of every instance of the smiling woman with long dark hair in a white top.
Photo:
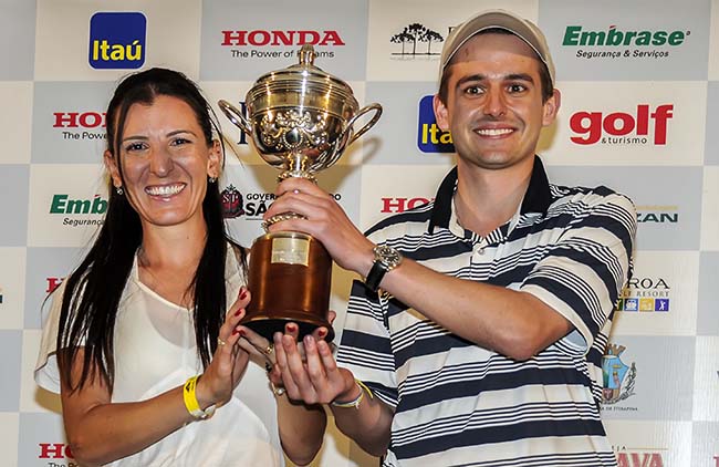
M280 446L304 464L320 447L295 423L323 432L321 408L281 391L272 402L272 347L239 325L247 261L223 229L211 112L164 69L126 77L110 102L105 221L54 293L35 370L83 465L272 466Z

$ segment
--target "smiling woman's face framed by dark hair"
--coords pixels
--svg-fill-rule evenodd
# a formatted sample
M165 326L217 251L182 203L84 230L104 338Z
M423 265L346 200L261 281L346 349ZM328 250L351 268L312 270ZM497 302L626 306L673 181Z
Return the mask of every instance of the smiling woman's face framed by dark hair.
M208 147L192 108L160 95L127 111L118 158L105 153L115 187L139 215L143 227L202 222L207 177L219 175L219 143ZM121 178L117 160L122 164Z

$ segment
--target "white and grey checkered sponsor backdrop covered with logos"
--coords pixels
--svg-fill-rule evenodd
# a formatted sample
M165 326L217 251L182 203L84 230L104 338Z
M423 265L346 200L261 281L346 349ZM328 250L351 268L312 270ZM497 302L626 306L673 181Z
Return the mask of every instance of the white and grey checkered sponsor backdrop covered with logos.
M72 466L58 397L32 380L43 300L106 209L104 110L117 80L161 65L238 106L261 74L315 64L379 102L376 127L320 176L367 228L427 203L454 163L430 95L450 28L508 8L545 31L563 92L540 154L558 183L637 205L635 274L604 357L621 466L719 466L719 0L0 0L0 465ZM180 13L180 14L177 14ZM249 246L277 170L223 115L230 232ZM237 155L237 157L236 157ZM337 331L352 274L335 269ZM336 429L316 466L369 466Z

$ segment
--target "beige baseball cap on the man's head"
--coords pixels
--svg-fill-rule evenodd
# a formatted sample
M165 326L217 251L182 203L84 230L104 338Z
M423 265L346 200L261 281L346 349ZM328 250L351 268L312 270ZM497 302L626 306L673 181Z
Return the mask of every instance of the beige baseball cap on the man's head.
M441 50L441 68L439 69L440 81L441 75L445 73L445 69L459 48L476 34L488 29L503 29L527 42L546 66L546 70L550 73L550 79L552 80L552 86L554 86L554 62L550 54L550 48L546 44L546 38L544 38L544 34L540 31L536 24L506 10L481 11L455 28L449 33Z

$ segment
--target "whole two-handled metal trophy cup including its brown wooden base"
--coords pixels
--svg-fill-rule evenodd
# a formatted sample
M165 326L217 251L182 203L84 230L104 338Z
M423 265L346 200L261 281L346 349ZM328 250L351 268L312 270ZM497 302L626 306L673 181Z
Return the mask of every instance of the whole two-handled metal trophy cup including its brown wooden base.
M313 46L305 44L298 64L260 76L247 93L247 116L227 101L218 102L230 122L250 136L260 157L282 170L279 181L301 177L316 183L314 174L334 165L382 115L376 103L359 108L350 85L315 66L314 58ZM368 113L374 114L355 129ZM283 212L263 227L292 217L300 216ZM270 340L288 322L298 323L300 339L325 326L325 340L332 341L331 278L332 258L313 237L294 231L259 237L250 250L252 301L241 324Z

